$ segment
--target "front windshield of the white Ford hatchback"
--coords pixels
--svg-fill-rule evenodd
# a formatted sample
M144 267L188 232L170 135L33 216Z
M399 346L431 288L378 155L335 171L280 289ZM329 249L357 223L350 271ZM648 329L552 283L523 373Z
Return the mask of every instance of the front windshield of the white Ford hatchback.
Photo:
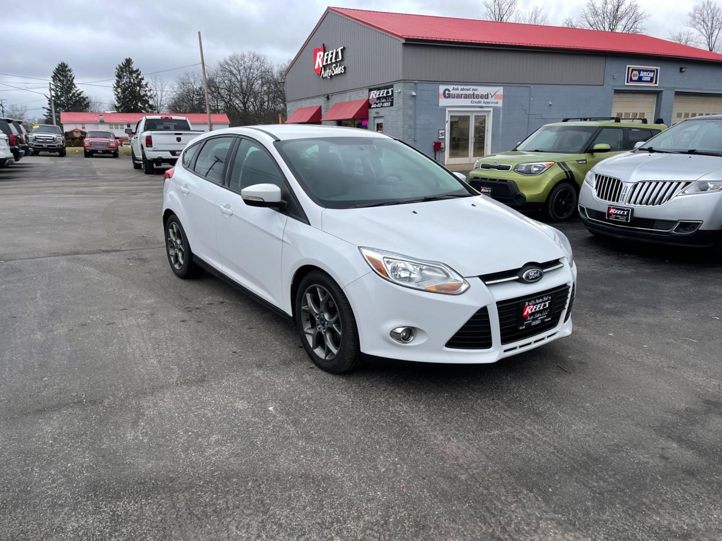
M391 138L309 138L276 145L303 190L326 208L474 195L437 162Z

